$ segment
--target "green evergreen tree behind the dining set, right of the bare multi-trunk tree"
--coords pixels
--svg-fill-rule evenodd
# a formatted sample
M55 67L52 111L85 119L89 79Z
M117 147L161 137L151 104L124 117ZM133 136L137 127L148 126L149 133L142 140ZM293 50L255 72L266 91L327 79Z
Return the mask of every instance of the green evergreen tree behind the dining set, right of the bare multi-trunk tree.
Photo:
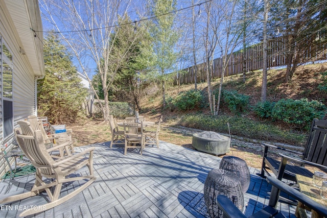
M125 23L130 23L126 18ZM120 30L118 30L120 29ZM119 101L127 101L137 110L141 111L139 100L144 89L148 87L151 76L152 47L149 33L144 23L125 25L115 31L115 49L112 55L121 56L121 49L128 50L129 54L117 72L113 82L114 95ZM133 40L133 43L131 43ZM132 44L133 46L129 46Z

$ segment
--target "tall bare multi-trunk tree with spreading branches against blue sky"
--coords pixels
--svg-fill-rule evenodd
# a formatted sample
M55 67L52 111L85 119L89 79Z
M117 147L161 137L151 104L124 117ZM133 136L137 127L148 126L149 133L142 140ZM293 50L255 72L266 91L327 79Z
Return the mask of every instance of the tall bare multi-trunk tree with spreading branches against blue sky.
M71 51L76 56L80 68L89 80L88 69L85 65L90 59L97 66L104 92L104 105L100 104L104 120L109 118L108 90L110 89L120 63L129 55L127 49L120 57L116 57L114 68L109 57L113 49L115 36L114 27L124 25L123 20L130 8L130 0L41 0L42 16L51 23ZM134 41L130 42L133 46ZM112 60L112 59L111 59ZM99 96L94 90L96 98Z

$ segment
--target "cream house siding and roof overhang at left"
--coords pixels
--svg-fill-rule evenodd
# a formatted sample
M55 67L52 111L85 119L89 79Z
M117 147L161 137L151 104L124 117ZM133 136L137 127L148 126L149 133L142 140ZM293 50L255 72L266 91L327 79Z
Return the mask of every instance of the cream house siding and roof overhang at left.
M37 1L27 0L34 3ZM15 22L12 19L12 16L19 15L19 19L30 20L30 15L28 11L30 8L26 9L27 5L31 4L26 2L26 0L14 0L15 4L18 4L16 14L10 13L7 6L10 3L7 0L0 0L0 37L3 41L6 42L8 49L13 56L13 120L14 128L17 127L17 121L20 119L25 119L31 114L35 114L35 63L33 63L32 56L29 56L28 53L22 54L20 52L21 48L28 50L28 44L22 43L21 40L24 40L24 37L33 37L33 35L18 35L18 29L22 28L17 25L17 20ZM9 6L10 7L10 6ZM12 7L12 6L11 6ZM21 14L25 12L25 14ZM37 12L39 13L39 12ZM15 17L15 19L17 19ZM24 28L30 29L30 25L25 26ZM16 29L17 28L17 29ZM21 29L20 32L21 33ZM34 37L33 37L34 38ZM41 37L42 39L42 37ZM33 39L34 40L34 39ZM41 54L43 56L43 54ZM43 60L41 61L43 62ZM43 66L44 69L44 66ZM1 77L0 77L1 79ZM0 81L0 86L2 82ZM2 107L2 89L0 89L0 140L3 140L3 107ZM13 134L6 138L3 144L7 143L8 148L12 147ZM13 161L13 160L12 160ZM4 159L0 159L0 177L8 170L7 164L4 163Z

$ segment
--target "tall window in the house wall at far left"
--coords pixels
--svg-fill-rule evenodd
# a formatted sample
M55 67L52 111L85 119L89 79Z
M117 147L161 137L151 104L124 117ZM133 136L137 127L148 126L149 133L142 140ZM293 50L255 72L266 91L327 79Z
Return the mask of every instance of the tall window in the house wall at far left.
M0 40L2 40L0 38ZM8 47L1 41L1 87L2 87L2 118L3 138L13 133L13 69L12 54Z

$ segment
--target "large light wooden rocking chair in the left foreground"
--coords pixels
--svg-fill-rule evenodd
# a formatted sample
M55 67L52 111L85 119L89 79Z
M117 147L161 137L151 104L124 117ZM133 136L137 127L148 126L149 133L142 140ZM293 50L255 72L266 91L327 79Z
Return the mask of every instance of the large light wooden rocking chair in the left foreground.
M31 127L30 131L32 131ZM48 193L50 198L50 203L38 207L31 207L28 210L21 212L19 216L39 213L62 204L76 196L96 179L93 172L94 147L86 149L78 154L71 154L54 160L50 156L49 152L51 152L51 150L58 149L57 147L64 147L64 145L59 145L47 150L44 146L43 136L40 130L34 131L32 136L17 134L17 142L22 151L25 152L26 156L29 157L32 164L36 168L35 183L31 191L2 199L0 200L0 204L33 197L44 190L46 193ZM89 154L88 157L86 156L87 154ZM66 178L66 176L75 173L78 169L85 165L87 165L89 168L88 176ZM51 178L52 180L43 180L42 177ZM64 183L85 179L89 180L79 188L75 189L73 192L60 198L60 191ZM52 187L54 187L53 192L51 191Z

